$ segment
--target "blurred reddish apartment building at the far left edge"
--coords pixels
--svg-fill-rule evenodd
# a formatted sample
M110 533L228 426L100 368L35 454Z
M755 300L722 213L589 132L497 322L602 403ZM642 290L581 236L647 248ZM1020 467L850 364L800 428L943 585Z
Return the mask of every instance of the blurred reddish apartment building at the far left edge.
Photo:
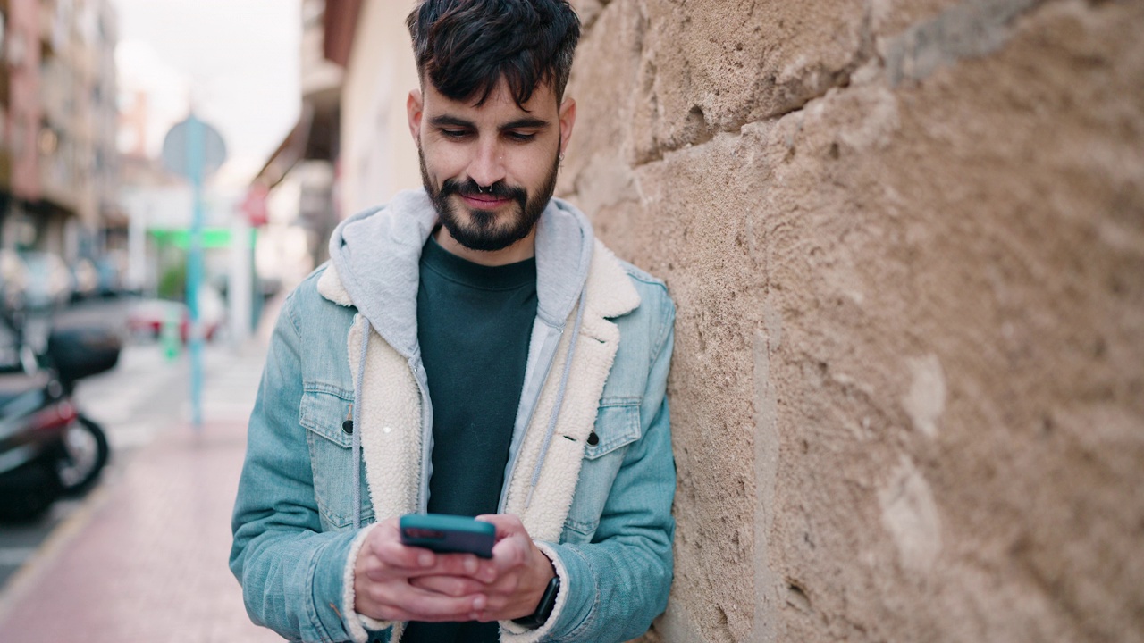
M110 0L0 0L0 246L124 247Z

